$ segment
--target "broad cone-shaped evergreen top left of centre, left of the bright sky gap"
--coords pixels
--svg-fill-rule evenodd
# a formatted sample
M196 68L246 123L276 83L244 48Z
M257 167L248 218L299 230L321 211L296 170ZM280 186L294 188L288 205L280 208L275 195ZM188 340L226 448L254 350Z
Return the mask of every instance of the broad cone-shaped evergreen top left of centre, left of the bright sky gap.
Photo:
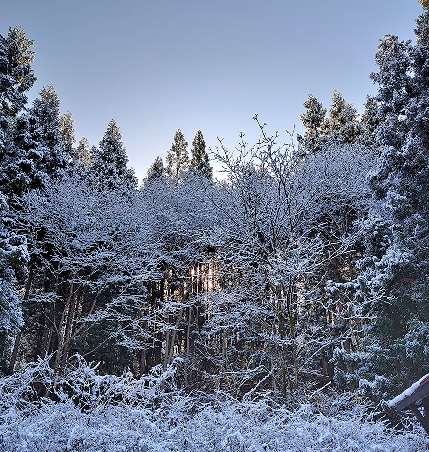
M136 188L137 178L132 168L127 169L127 163L119 127L112 119L100 141L99 149L93 148L89 177L93 183L103 188L129 193Z

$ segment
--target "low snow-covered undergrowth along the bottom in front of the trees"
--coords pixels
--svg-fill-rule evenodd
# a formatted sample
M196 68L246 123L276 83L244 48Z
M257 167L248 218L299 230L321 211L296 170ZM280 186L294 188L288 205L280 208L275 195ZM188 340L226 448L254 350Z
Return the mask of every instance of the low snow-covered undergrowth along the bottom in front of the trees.
M127 452L308 452L429 450L418 426L393 432L364 407L310 404L289 411L268 398L186 395L174 383L180 360L140 380L99 376L76 357L55 382L47 360L0 380L0 450ZM46 388L55 401L41 397ZM39 396L37 396L37 392ZM55 394L55 397L52 397Z

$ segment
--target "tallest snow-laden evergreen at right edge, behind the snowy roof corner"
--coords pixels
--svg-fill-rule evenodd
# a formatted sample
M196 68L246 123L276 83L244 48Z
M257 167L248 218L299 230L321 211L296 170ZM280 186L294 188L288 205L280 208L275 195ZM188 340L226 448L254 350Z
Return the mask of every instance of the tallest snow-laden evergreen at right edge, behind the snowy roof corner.
M359 359L337 354L343 380L352 369L368 394L386 397L429 371L429 12L418 18L416 45L384 36L375 59L378 84L367 103L378 166L370 176L377 208L366 221L365 256L355 297L374 321ZM368 105L369 104L369 105ZM422 339L426 338L426 339ZM341 374L341 372L340 372ZM371 376L374 382L369 384ZM385 376L389 376L386 379ZM350 380L349 380L350 381Z

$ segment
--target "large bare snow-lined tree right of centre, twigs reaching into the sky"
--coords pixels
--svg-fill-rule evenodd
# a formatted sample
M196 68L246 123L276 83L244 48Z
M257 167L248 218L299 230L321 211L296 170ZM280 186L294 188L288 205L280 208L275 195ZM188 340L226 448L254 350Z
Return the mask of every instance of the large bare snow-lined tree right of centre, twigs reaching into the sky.
M261 134L258 146L249 150L243 140L237 156L224 147L216 153L227 178L207 194L218 212L212 241L229 288L213 296L223 299L225 318L234 319L219 325L224 346L229 335L237 334L234 323L249 322L249 331L254 322L257 328L252 334L265 342L259 350L265 349L264 365L268 361L271 368L276 366L274 385L287 396L298 389L315 356L332 342L350 337L365 317L362 306L349 303L338 309L318 290L326 263L345 255L356 241L353 216L346 212L360 209L362 150L342 153L335 148L303 160L292 146L276 146L277 136L267 136L264 126ZM346 186L343 173L350 187L339 196ZM358 203L353 205L353 200ZM342 217L337 215L341 209ZM320 223L322 212L326 220ZM326 244L328 221L338 230ZM341 221L344 224L339 225ZM330 312L330 324L326 316L312 315L321 309ZM341 334L332 334L337 328L343 328Z

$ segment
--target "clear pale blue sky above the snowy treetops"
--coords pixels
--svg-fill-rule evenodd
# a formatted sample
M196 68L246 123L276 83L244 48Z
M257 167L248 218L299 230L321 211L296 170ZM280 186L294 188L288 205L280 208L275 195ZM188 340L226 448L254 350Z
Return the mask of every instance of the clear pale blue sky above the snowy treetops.
M296 126L312 93L334 89L360 113L376 88L385 34L414 38L417 0L0 0L0 34L20 24L34 39L33 100L51 82L75 120L76 139L98 145L115 118L141 180L180 127L234 148Z

